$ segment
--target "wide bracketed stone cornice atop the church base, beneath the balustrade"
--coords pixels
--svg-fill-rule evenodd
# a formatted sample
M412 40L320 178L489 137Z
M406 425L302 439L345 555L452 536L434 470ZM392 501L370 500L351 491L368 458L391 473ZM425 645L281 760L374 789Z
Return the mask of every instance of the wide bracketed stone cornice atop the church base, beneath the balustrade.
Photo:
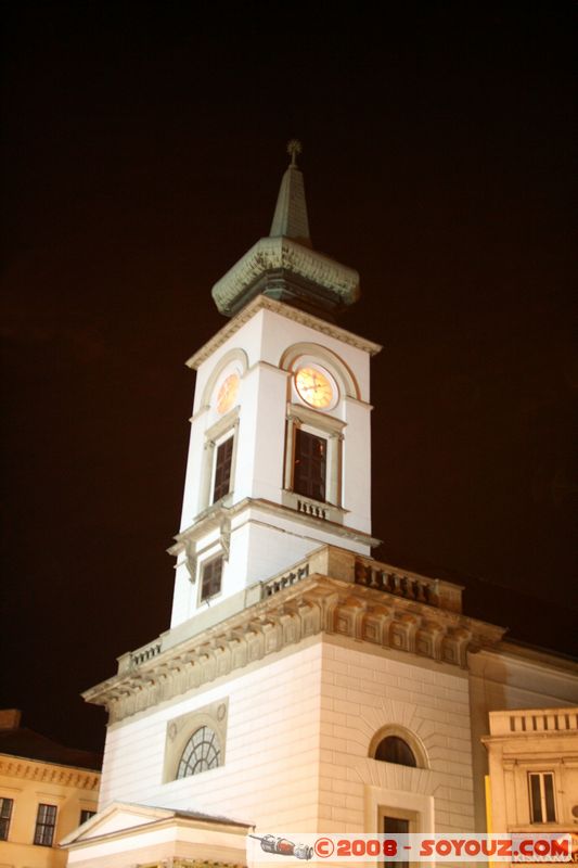
M458 612L313 574L290 587L280 583L271 596L82 695L105 705L115 723L322 633L463 668L468 651L502 636Z

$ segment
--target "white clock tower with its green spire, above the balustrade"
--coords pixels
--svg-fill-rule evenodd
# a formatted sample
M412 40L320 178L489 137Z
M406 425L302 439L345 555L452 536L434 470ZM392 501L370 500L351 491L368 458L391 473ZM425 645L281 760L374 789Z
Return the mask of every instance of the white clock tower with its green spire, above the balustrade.
M170 549L179 636L244 609L321 545L369 554L377 541L370 358L381 347L334 322L359 276L312 248L297 150L269 235L213 288L228 322L188 361L196 390Z

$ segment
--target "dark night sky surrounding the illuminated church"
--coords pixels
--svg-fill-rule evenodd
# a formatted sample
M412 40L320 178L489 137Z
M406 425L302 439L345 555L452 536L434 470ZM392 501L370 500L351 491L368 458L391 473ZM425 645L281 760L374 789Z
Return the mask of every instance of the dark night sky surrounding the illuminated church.
M378 557L573 651L571 5L402 5L4 4L0 705L28 726L100 746L79 692L168 626L183 362L294 136L313 243L361 273L341 324L385 345Z

